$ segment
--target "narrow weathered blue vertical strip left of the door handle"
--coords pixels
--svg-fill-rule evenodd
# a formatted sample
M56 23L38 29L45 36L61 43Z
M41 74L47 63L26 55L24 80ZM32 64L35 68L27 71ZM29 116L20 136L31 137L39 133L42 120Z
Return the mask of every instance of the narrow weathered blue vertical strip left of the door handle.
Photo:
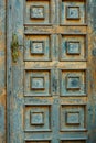
M12 95L12 66L11 66L11 36L12 36L12 6L7 1L7 142L10 143L10 97Z

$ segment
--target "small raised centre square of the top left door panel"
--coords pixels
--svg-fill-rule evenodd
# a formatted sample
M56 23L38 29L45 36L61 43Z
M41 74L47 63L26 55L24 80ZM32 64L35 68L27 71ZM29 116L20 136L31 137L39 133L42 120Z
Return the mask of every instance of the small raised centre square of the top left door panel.
M44 7L32 6L30 14L31 14L31 19L44 19Z

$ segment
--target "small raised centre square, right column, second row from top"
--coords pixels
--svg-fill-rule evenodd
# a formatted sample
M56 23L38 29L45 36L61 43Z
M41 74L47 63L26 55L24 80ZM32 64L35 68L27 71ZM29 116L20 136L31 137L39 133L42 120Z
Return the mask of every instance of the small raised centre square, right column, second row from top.
M79 42L66 42L67 43L67 47L66 47L66 53L70 55L78 55L81 54L81 43Z

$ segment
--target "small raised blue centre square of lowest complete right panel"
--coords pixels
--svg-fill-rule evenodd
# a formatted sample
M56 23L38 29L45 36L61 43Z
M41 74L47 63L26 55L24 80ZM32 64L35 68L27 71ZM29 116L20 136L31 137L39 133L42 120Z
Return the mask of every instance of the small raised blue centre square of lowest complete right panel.
M67 124L79 124L79 112L66 112Z

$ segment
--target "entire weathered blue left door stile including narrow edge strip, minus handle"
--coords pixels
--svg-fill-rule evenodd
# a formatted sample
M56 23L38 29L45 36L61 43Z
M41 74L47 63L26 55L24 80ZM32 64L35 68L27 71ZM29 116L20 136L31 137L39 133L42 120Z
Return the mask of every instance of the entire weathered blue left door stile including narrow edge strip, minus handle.
M11 61L11 37L17 34L23 45L23 1L7 3L7 133L8 143L23 143L23 47L19 48L18 63Z

